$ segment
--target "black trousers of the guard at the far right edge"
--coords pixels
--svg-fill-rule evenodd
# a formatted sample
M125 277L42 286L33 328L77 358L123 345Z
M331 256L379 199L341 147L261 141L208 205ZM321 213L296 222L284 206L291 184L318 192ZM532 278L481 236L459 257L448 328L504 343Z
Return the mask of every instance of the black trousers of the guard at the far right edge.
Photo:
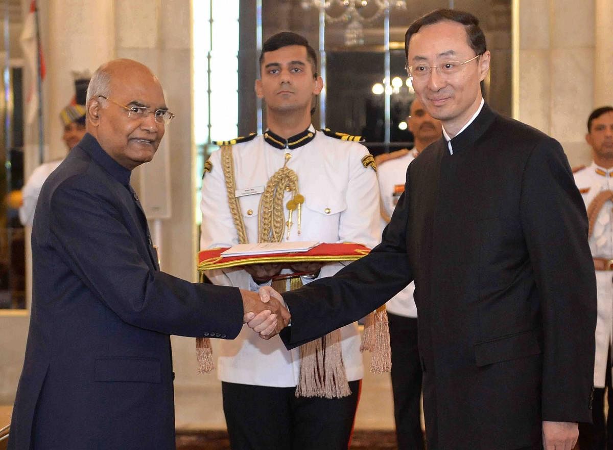
M594 389L592 402L593 424L579 424L579 448L581 450L613 450L613 389L611 387L611 349L607 355L605 387ZM604 395L609 402L609 417L604 418Z

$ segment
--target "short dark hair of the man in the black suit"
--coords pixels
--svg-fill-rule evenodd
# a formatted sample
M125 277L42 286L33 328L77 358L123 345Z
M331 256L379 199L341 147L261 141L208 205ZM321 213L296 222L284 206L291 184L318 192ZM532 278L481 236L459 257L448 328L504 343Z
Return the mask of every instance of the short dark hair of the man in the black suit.
M482 55L487 47L485 45L485 34L479 27L479 19L470 14L470 12L460 11L457 9L435 9L428 14L415 20L405 33L405 56L409 59L409 41L413 34L417 33L422 26L433 25L442 21L452 21L464 25L466 37L468 37L468 45L474 50L477 55Z

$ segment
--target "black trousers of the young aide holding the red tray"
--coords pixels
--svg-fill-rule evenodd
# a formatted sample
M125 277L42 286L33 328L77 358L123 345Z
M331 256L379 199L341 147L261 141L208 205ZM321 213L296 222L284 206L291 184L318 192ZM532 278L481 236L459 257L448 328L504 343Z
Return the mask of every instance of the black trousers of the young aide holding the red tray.
M295 397L295 387L221 383L232 450L347 450L361 381L343 398Z

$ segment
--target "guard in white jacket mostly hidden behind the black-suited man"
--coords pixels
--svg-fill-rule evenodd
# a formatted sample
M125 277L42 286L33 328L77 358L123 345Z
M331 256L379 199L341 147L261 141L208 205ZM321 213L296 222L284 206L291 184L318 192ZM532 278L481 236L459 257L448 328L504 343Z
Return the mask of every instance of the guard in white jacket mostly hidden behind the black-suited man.
M407 117L415 147L385 155L378 165L381 192L381 229L387 226L398 198L405 192L406 169L419 152L441 138L441 123L425 111L419 99L411 103ZM419 400L421 397L421 364L417 350L417 307L413 300L413 282L386 304L392 347L392 389L398 450L422 450Z

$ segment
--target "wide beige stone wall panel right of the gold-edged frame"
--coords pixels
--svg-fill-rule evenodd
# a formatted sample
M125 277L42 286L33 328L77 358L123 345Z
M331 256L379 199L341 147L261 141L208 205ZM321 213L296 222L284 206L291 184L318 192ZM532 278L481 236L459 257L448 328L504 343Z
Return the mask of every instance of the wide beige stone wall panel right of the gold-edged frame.
M560 141L571 165L587 163L595 0L521 0L519 14L519 118Z

